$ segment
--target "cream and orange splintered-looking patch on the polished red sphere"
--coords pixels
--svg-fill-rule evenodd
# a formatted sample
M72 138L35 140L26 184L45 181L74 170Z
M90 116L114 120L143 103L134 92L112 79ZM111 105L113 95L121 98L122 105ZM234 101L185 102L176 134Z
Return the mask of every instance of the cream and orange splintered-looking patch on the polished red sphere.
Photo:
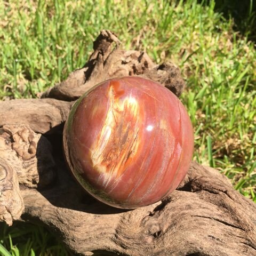
M118 178L122 174L124 163L130 162L139 145L137 138L139 132L138 101L131 95L118 97L111 85L108 97L109 107L105 122L90 149L92 164L99 173L103 174L105 186L111 178ZM125 118L129 118L129 121L120 121ZM126 140L123 139L124 137ZM120 155L116 154L118 149Z

